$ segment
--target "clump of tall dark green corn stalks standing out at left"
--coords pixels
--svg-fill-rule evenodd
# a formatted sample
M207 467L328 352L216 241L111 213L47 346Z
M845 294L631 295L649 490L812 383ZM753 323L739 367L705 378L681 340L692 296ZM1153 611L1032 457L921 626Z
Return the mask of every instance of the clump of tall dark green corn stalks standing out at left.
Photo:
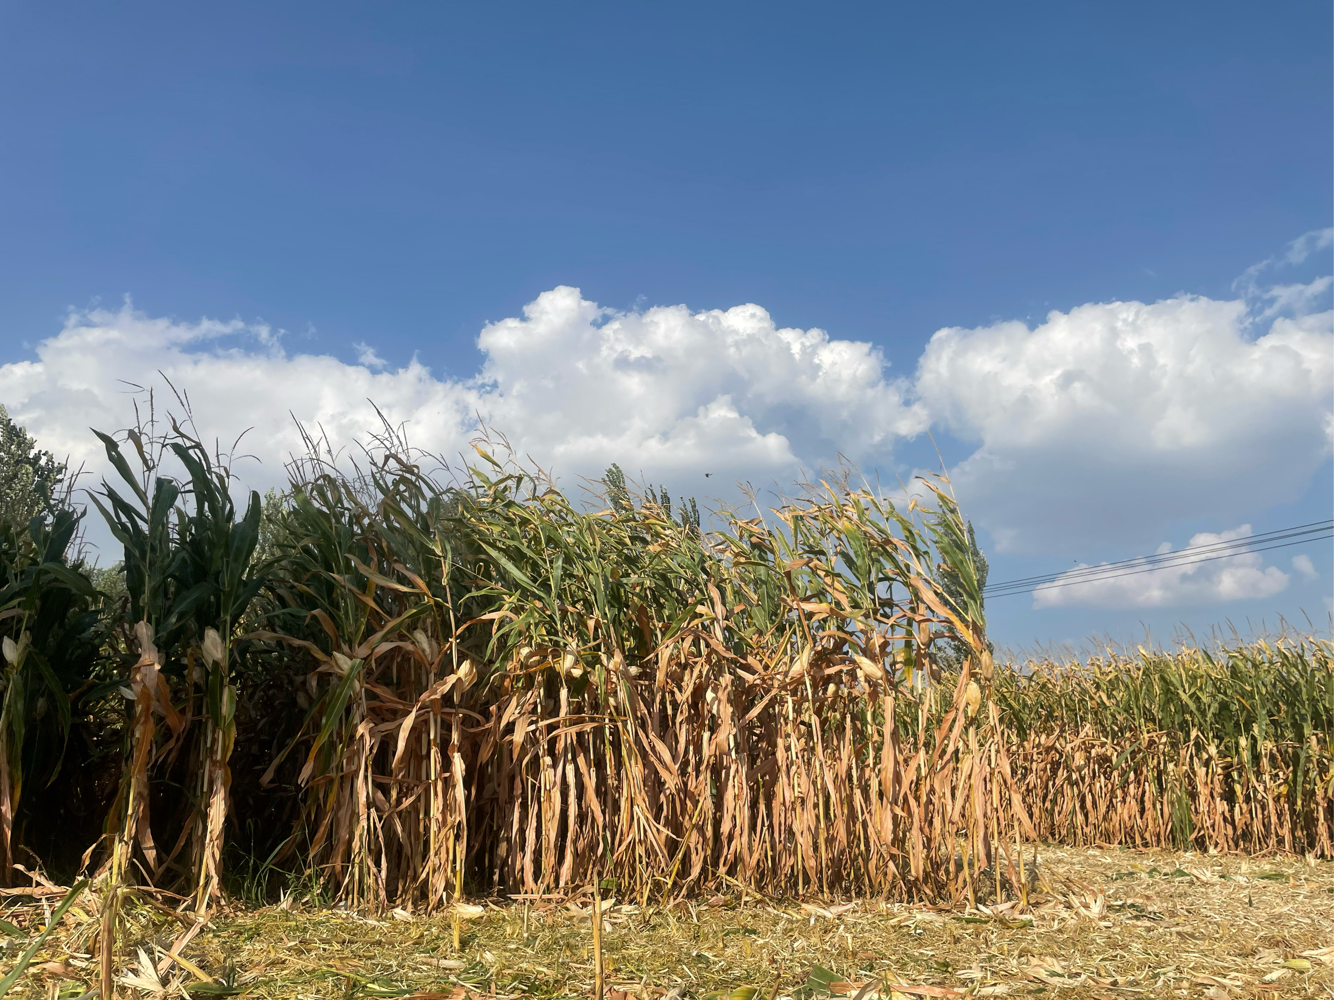
M121 444L97 432L120 483L103 481L92 496L124 548L128 616L127 680L133 693L128 745L117 804L108 819L111 851L104 907L103 979L109 991L111 952L120 887L137 845L145 873L156 879L192 841L191 888L203 909L219 895L225 820L227 760L235 737L236 692L231 681L235 632L261 580L249 575L259 532L260 501L251 493L237 517L227 468L175 421L153 435L127 433L135 465ZM175 459L184 476L165 475ZM133 636L129 640L129 636ZM137 648L137 656L132 652ZM159 739L156 716L169 735ZM193 724L200 737L189 743ZM183 749L196 792L192 816L165 857L159 857L149 817L149 784L159 763L169 767ZM197 797L196 797L197 796Z

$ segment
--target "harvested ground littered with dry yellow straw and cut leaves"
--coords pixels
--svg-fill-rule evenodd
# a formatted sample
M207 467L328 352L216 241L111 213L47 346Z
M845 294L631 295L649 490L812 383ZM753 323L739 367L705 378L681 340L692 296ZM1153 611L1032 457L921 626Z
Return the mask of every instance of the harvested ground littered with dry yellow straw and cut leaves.
M739 887L671 908L615 900L603 924L607 997L1334 997L1334 863L1035 849L1027 908L803 904L743 899ZM11 925L4 972L52 900L0 903ZM459 952L451 913L371 919L289 901L216 915L179 960L167 952L189 920L136 903L128 912L141 955L131 949L119 965L124 996L591 996L588 896L482 903L464 913ZM71 909L11 996L87 995L95 929L87 908Z

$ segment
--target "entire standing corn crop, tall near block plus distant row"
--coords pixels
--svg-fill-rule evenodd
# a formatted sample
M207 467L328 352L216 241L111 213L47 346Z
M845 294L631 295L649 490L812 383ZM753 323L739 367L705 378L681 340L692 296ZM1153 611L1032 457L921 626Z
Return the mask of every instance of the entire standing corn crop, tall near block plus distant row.
M0 877L95 877L107 996L125 893L204 913L256 864L430 911L975 903L1022 895L1039 839L1334 856L1327 641L994 664L943 479L702 525L615 471L579 504L387 433L355 467L311 441L241 512L175 421L100 436L124 593L68 553L73 513L0 537Z

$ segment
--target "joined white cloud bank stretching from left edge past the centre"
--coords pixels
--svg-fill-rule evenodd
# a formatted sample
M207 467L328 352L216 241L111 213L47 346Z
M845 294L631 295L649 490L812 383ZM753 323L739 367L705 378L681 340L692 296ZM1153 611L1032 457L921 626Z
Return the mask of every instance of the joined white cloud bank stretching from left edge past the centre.
M364 343L352 345L359 363L346 364L291 355L263 325L181 324L127 304L71 313L37 360L0 367L0 400L44 447L100 471L88 428L124 427L133 385L155 385L159 407L179 412L169 383L188 393L207 437L228 445L251 428L240 451L263 464L237 471L261 487L281 483L300 451L295 421L350 447L379 427L371 400L419 448L463 452L480 419L566 477L611 461L668 481L715 469L783 477L840 449L887 455L926 427L870 344L778 328L758 305L616 313L562 287L478 343L480 372L447 380L416 361L383 371Z

